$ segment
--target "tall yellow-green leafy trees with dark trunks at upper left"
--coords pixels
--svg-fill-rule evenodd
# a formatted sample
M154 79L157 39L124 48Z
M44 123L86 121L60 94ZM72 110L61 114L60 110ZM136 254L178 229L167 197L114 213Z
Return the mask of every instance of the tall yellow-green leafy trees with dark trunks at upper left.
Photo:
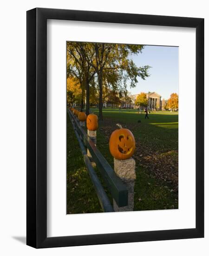
M87 114L90 92L96 95L98 91L96 98L99 103L99 119L102 120L104 88L121 97L126 95L127 85L134 88L138 78L145 80L149 76L148 65L137 67L131 59L131 55L141 54L143 49L143 45L67 42L67 75L79 80L82 89L81 104L85 95ZM93 88L90 89L91 87Z

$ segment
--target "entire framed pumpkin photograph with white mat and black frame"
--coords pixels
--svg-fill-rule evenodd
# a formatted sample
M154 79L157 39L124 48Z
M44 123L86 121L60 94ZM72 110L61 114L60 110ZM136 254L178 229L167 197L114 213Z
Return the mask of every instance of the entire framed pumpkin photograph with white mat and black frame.
M27 245L203 236L204 19L27 11Z

